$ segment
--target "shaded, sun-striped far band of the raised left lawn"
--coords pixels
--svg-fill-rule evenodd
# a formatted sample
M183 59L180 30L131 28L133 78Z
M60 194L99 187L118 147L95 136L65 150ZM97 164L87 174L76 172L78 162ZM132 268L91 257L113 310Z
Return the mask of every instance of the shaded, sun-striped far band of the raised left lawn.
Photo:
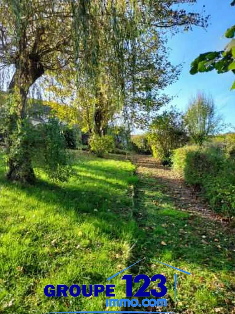
M80 174L84 172L89 176ZM103 171L102 167L87 162L77 169L75 167L73 177L65 184L37 179L34 186L22 186L7 181L3 172L0 174L0 184L14 189L15 203L20 202L20 195L17 194L20 191L27 198L33 197L44 203L45 208L52 205L53 209L50 207L50 210L55 214L67 217L68 213L72 213L74 223L88 222L110 239L118 239L125 232L130 238L127 228L128 221L132 220L132 199L128 195L127 182L129 172L128 169L118 170L115 167L106 167L106 171ZM36 209L30 206L28 209Z

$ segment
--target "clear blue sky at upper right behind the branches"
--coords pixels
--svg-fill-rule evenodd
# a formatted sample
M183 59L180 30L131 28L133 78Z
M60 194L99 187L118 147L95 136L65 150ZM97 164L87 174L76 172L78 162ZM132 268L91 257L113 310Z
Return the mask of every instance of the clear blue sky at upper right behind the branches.
M181 32L169 39L170 61L173 64L183 63L183 70L178 81L165 89L165 92L177 95L171 105L176 105L182 111L198 90L210 93L224 122L235 126L235 90L230 91L235 75L232 72L217 74L216 71L189 74L190 63L200 53L222 50L229 42L223 35L227 28L235 24L235 6L232 7L231 2L232 0L198 0L196 5L189 6L189 10L201 12L205 5L206 15L210 14L210 24L206 31L195 27L193 31Z

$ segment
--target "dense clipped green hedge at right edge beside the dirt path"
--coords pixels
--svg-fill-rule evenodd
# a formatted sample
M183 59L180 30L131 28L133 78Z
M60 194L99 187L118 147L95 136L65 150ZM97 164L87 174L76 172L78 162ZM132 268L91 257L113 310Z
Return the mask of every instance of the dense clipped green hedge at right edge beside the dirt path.
M174 169L198 187L211 208L227 216L235 214L235 162L218 149L185 147L174 153Z

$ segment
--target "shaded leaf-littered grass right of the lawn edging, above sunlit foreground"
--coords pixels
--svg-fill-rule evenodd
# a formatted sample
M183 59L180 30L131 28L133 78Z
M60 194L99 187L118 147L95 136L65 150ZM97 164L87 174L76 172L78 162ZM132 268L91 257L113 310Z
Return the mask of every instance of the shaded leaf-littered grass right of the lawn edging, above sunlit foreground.
M138 184L134 216L142 230L139 245L134 248L135 260L159 260L165 252L176 264L184 261L213 271L234 269L232 230L196 212L180 210L166 195L164 185L157 181L153 185L147 176L142 176ZM145 260L145 264L148 267L151 261Z

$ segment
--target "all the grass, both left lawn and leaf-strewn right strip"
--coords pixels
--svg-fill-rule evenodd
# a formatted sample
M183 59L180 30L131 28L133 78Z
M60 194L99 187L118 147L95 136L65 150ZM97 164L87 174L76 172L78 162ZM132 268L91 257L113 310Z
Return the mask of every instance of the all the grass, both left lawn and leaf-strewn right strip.
M168 305L163 310L234 311L234 236L219 224L178 210L155 178L143 173L138 181L129 161L79 153L69 182L55 184L41 173L34 187L5 181L3 164L1 169L0 312L105 310L104 293L48 298L44 286L105 285L109 276L143 257L191 273L177 272L175 308L173 269L147 258L130 268L133 275L166 276ZM117 298L125 295L121 278L112 279Z

